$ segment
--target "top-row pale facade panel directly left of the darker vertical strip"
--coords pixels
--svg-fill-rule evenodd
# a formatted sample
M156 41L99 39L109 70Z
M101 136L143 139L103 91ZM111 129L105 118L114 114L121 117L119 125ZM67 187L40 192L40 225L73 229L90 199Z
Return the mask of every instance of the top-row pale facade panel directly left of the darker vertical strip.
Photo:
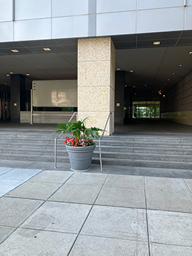
M88 0L52 0L52 17L88 14Z

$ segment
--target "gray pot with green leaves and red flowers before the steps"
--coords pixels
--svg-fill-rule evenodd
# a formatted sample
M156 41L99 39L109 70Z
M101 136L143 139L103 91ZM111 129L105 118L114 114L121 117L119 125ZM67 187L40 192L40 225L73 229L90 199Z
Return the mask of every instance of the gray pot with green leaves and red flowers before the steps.
M95 149L95 142L92 138L99 139L99 131L103 131L97 127L86 128L86 119L58 124L57 127L59 128L55 131L73 134L73 137L65 137L64 141L70 158L71 170L73 171L87 171L90 169L92 154Z

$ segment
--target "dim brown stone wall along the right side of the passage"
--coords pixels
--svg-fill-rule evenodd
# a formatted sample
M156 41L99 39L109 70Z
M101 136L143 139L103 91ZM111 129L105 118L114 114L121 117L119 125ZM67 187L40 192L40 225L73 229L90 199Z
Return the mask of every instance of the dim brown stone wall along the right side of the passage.
M161 99L161 119L192 125L192 72Z

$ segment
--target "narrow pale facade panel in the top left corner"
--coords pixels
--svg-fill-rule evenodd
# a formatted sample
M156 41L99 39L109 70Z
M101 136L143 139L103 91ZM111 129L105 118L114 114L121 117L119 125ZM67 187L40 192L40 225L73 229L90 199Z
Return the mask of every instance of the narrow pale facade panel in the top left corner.
M12 21L12 0L1 0L0 1L0 21Z

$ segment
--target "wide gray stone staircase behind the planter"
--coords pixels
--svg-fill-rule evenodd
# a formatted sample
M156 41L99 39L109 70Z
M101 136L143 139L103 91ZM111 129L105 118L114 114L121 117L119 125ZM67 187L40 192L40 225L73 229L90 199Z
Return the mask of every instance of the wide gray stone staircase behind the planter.
M56 134L58 135L58 134ZM52 134L0 133L0 159L54 162ZM68 163L68 153L58 140L57 161ZM92 164L100 164L99 148ZM188 137L104 137L102 164L192 170L192 138Z

